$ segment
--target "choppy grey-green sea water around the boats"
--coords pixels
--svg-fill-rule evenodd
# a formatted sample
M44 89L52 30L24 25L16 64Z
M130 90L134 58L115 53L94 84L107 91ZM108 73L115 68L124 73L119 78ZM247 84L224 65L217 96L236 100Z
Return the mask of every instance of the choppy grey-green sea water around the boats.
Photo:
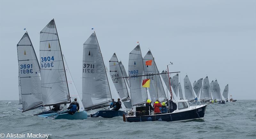
M207 106L204 120L123 122L112 119L51 120L21 112L18 101L0 101L0 133L44 133L48 138L256 138L256 100Z

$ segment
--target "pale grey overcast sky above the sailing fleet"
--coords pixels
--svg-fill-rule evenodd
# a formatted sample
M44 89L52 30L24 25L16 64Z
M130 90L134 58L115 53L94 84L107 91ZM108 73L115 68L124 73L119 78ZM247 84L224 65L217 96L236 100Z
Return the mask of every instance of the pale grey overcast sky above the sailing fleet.
M55 20L79 93L83 43L96 32L104 63L116 52L128 70L140 42L158 70L191 83L217 79L234 99L256 99L256 1L12 1L0 0L0 100L18 100L17 43L26 28L39 57L39 32ZM172 74L171 76L174 76ZM184 89L183 89L184 90Z

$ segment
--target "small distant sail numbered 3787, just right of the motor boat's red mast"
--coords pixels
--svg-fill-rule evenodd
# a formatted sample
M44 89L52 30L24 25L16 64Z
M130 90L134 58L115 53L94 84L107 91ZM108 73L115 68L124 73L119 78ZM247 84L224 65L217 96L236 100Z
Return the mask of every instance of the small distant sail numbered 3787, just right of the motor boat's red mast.
M185 78L184 78L184 92L185 92L185 97L188 101L195 99L193 88L192 88L191 83L188 79L188 75L186 75Z

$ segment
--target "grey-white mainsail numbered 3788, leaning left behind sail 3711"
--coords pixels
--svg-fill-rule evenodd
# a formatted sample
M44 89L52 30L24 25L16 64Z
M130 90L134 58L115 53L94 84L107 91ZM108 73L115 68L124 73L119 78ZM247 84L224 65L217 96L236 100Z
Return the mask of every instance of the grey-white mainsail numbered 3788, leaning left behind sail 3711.
M128 89L116 53L109 60L109 72L121 100L127 100L129 98Z

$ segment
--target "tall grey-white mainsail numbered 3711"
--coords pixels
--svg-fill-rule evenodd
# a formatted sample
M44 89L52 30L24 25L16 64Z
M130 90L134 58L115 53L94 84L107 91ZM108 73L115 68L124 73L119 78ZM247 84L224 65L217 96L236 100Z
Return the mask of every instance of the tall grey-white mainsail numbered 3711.
M107 72L95 33L84 42L82 72L85 109L111 102Z

